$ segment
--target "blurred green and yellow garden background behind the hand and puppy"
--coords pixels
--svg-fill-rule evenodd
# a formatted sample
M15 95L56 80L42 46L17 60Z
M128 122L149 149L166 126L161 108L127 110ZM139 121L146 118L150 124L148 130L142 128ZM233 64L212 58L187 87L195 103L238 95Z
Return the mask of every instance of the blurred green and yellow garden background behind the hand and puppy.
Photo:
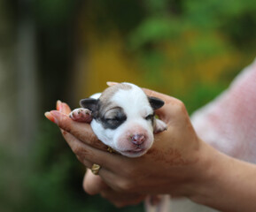
M129 81L211 101L256 56L254 0L0 0L0 211L114 208L43 116Z

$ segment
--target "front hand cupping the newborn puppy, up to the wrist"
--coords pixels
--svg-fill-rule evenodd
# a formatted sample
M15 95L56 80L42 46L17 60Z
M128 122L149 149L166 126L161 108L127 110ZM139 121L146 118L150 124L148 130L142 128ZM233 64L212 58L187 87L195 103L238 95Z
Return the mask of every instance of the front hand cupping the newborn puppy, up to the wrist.
M99 176L107 185L105 191L136 193L138 197L148 193L188 196L199 171L197 164L202 141L190 124L181 101L148 89L144 92L165 101L156 114L167 124L167 131L156 134L152 148L138 158L110 154L89 124L74 122L63 111L52 110L46 117L62 129L64 138L81 163L89 168L93 163L101 166ZM93 180L97 182L98 179ZM86 185L85 190L89 188ZM99 186L92 193L104 190L103 187ZM89 188L90 191L93 188Z

